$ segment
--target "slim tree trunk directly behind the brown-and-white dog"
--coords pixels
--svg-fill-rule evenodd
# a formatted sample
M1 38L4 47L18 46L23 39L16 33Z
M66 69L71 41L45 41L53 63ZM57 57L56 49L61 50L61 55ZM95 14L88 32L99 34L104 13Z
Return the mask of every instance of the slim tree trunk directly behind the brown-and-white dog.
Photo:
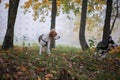
M53 29L53 28L55 29L56 13L57 13L56 0L52 0L51 29ZM55 40L51 41L50 48L55 48Z

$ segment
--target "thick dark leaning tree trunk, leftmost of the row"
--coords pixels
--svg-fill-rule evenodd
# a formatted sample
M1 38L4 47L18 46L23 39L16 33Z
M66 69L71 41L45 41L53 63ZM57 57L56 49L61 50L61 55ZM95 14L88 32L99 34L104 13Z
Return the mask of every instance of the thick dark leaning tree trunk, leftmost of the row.
M17 15L18 5L19 0L9 0L7 31L3 41L2 50L13 48L14 24Z

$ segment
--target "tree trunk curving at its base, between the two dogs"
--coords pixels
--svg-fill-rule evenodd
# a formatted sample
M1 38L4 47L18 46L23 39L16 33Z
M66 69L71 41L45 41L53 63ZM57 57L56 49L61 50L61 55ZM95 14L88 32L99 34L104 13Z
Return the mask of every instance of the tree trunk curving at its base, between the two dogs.
M85 39L87 2L88 0L82 0L82 13L81 13L81 22L80 22L80 29L79 29L79 41L80 41L82 50L86 50L89 48Z

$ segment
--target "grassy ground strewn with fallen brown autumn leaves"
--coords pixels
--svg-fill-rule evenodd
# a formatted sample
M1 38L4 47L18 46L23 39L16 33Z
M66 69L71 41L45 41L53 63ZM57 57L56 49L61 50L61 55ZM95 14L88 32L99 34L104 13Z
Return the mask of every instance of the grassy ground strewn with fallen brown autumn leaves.
M38 47L0 51L0 80L120 80L120 48L103 60L94 50L59 46L48 56Z

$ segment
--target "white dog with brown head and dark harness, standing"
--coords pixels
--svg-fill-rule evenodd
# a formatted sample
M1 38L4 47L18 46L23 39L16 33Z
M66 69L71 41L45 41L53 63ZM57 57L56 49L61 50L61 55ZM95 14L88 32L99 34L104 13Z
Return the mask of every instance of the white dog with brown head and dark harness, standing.
M60 36L57 35L57 32L55 31L55 29L52 29L49 33L46 34L42 34L39 36L39 43L40 43L40 49L39 49L39 54L42 53L42 49L43 47L46 48L47 53L50 55L50 42L51 40L57 40L59 39Z

